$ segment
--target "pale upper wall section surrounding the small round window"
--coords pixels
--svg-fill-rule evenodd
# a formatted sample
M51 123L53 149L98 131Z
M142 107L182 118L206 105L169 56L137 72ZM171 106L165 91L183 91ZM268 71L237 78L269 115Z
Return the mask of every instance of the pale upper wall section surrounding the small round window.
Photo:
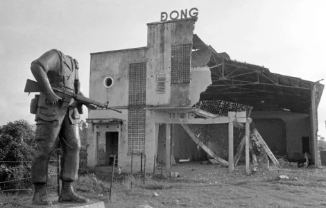
M91 55L89 98L100 103L110 101L109 106L128 106L129 64L147 62L146 51L147 49L141 48ZM107 76L111 76L114 80L110 88L105 88L103 85ZM107 113L106 117L112 116L112 112L105 113ZM92 111L89 118L93 118Z

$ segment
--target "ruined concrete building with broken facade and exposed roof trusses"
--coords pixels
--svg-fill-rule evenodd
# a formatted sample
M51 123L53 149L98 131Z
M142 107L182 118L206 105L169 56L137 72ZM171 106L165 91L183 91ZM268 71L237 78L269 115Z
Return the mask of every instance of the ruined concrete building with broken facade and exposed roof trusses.
M250 113L251 125L274 155L295 160L307 152L315 162L317 108L324 86L216 52L194 34L196 21L149 23L147 46L91 53L89 98L110 101L109 106L122 113L89 110L89 168L112 164L112 155L117 155L123 171L130 168L131 154L137 168L139 153L145 154L148 171L153 171L154 158L166 166L169 155L177 161L206 159L207 152L198 148L183 124L189 124L198 139L206 138L203 143L218 157L227 159L223 149L228 152L228 141L221 141L221 135L225 129L228 134L228 125L218 124L221 131L214 133L211 115L221 112L209 110L221 103L228 106L226 111ZM234 110L239 107L242 110ZM198 118L212 122L200 123ZM191 125L210 125L211 130L195 132ZM234 139L235 149L239 142Z

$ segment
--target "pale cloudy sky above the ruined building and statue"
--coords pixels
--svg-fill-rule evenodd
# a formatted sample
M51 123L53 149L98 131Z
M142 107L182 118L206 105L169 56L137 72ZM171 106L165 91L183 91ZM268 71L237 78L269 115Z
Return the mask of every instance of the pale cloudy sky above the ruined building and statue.
M24 93L31 62L58 49L79 62L82 92L89 94L89 53L146 46L146 23L161 12L198 8L194 33L232 59L273 73L317 81L326 78L326 1L0 1L0 125L34 122ZM321 81L325 84L326 81ZM84 110L82 119L87 118ZM318 135L326 137L326 90L318 107Z

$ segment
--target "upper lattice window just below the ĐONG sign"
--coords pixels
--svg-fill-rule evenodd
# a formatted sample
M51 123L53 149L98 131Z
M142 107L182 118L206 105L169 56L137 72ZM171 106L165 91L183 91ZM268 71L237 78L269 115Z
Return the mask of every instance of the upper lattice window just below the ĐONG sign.
M172 46L171 84L190 83L191 44Z

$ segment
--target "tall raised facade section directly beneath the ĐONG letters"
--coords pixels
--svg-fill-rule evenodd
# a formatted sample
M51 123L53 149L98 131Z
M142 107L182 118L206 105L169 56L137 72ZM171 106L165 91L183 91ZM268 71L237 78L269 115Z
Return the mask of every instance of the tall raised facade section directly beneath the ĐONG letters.
M171 46L192 44L194 23L194 20L187 20L148 24L147 105L191 104L189 84L171 85ZM166 74L166 94L155 92L157 73Z

